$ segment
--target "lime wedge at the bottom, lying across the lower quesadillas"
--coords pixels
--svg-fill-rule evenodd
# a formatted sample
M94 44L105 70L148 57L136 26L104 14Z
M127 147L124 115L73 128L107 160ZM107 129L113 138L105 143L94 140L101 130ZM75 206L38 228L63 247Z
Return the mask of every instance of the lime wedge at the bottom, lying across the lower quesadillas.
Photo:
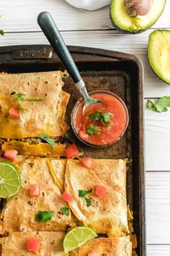
M78 226L68 231L63 239L64 252L71 252L73 249L81 247L90 239L97 237L97 233L86 226Z

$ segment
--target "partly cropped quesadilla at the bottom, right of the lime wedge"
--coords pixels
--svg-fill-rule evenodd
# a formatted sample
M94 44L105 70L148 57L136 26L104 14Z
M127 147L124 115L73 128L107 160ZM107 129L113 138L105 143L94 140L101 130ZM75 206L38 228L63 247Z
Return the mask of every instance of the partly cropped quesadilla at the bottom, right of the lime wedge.
M130 236L92 239L72 252L72 255L86 256L92 252L96 252L98 255L131 256L132 243L130 242Z

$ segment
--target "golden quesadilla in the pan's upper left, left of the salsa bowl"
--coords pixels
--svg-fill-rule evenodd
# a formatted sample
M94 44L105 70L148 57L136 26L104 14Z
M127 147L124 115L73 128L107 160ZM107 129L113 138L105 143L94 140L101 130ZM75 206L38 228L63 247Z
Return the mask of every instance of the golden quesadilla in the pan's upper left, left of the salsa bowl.
M63 136L68 129L65 114L69 94L62 90L62 77L61 71L0 73L0 137L19 139L39 137L42 133ZM18 93L42 101L19 101L23 109L16 99ZM20 118L9 115L12 107L19 110Z

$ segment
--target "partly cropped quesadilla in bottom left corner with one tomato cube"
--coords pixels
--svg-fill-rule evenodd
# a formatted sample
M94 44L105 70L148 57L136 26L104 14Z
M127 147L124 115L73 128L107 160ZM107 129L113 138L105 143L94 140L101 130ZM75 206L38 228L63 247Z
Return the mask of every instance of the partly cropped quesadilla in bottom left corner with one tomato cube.
M0 239L1 256L66 256L62 248L63 237L63 232L12 232ZM30 238L40 241L37 254L26 249Z

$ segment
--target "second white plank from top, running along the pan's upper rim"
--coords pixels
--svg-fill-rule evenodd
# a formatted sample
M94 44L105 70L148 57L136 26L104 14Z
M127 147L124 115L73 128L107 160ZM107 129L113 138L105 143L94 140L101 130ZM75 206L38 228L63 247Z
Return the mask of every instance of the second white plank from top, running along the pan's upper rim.
M148 63L147 47L150 33L151 30L138 35L122 35L116 31L68 31L61 34L68 45L105 48L135 54L143 62L144 96L157 98L169 95L169 85L159 80ZM0 46L48 43L42 33L7 33L0 39Z

